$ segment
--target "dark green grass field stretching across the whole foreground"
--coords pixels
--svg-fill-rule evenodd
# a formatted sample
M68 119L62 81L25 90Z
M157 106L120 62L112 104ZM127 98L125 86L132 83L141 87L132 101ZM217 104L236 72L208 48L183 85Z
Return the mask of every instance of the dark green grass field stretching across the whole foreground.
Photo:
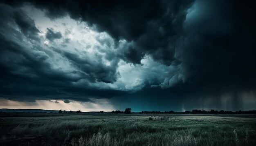
M256 146L256 116L2 114L0 145Z

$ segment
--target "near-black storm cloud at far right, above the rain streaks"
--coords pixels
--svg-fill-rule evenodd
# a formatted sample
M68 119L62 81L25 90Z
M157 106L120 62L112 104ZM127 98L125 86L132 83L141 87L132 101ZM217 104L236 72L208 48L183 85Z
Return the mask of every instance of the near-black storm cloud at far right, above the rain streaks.
M250 2L200 1L177 40L187 82L215 90L253 90L256 87L255 9ZM247 27L245 27L247 26ZM218 89L219 88L219 89Z

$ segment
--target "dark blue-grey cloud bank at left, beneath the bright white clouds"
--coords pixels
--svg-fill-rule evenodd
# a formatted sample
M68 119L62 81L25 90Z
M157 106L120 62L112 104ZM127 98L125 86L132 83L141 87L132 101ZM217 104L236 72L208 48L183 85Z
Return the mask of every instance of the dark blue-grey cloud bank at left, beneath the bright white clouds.
M18 10L4 4L0 4L0 7L3 8L0 11L5 11L3 19L0 19L1 97L27 102L35 102L35 99L90 101L90 98L110 98L124 94L117 90L92 88L89 85L90 82L73 84L81 79L88 79L92 82L115 82L118 75L117 65L115 64L118 62L113 62L115 67L112 69L111 66L103 66L101 62L95 62L95 60L86 60L79 58L76 54L56 51L82 71L74 69L73 71L63 72L54 69L49 58L58 54L54 54L49 48L42 48L36 42L30 45L24 41L26 40L24 37L30 40L33 39L31 36L36 35L37 31L34 31L36 27L32 26L34 21L27 24L29 27L20 25L19 32L13 29L16 25L16 19L18 19L13 13ZM26 17L22 21L31 20L31 18ZM4 20L5 22L3 22ZM30 28L31 31L25 28ZM34 32L36 33L34 34ZM24 36L23 34L28 35ZM101 58L99 58L99 61L101 61Z

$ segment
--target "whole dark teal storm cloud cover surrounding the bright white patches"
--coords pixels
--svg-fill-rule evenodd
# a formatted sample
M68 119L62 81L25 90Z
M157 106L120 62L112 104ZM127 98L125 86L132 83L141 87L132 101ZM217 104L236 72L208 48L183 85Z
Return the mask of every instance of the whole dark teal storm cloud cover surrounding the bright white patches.
M110 66L102 64L100 54L92 61L81 54L51 48L75 66L76 69L70 73L52 68L46 61L51 51L42 53L36 44L28 51L22 43L14 41L22 40L23 35L39 40L39 31L34 20L18 9L22 1L4 2L9 6L2 4L0 10L5 11L0 18L2 95L36 95L49 99L57 95L56 99L83 101L89 101L90 97L115 97L116 102L122 101L122 97L136 97L141 104L147 96L150 103L159 105L160 100L183 103L185 99L198 102L198 99L209 97L216 107L221 107L218 101L222 95L229 94L234 99L232 105L236 110L242 108L238 105L240 94L256 88L256 4L253 0L27 0L51 19L70 15L74 20L95 25L97 31L104 31L115 39L116 53L103 52ZM17 25L22 33L4 21ZM8 32L13 35L4 35ZM60 39L62 34L47 29L46 38ZM68 43L69 40L64 39L63 42ZM99 40L99 43L112 45L107 40ZM162 82L148 79L150 81L145 82L144 90L132 94L90 88L90 83L117 82L120 59L126 63L141 64L146 55L165 66L175 66L175 73L169 71L169 77ZM159 69L158 66L155 68ZM148 76L150 73L144 74L145 78ZM89 82L73 84L81 80ZM149 88L151 85L155 88Z

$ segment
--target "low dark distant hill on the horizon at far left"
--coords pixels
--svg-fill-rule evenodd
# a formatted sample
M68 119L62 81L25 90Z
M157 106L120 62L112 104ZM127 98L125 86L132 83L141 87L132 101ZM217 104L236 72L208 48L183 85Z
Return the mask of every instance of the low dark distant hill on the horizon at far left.
M8 108L0 108L0 112L6 113L58 113L55 110L42 110L42 109L8 109Z

